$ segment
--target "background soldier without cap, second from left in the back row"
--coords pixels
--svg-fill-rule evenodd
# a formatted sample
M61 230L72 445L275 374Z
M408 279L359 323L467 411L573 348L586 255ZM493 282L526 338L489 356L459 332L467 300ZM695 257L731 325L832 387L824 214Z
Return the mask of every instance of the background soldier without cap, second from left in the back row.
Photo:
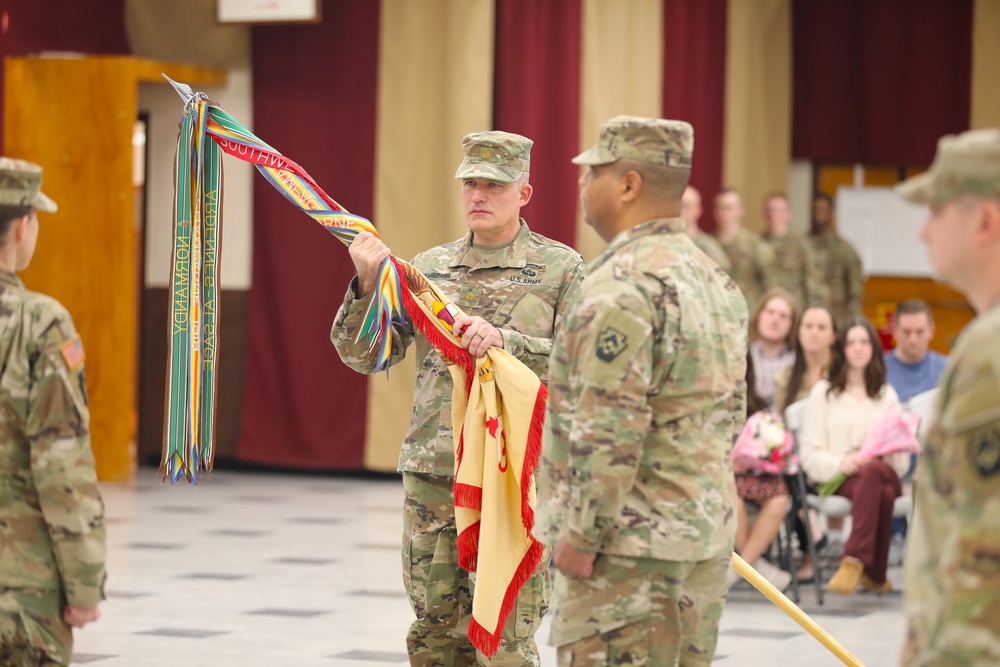
M774 252L764 240L743 227L743 198L732 188L715 195L715 238L729 257L733 277L753 308L774 286Z

